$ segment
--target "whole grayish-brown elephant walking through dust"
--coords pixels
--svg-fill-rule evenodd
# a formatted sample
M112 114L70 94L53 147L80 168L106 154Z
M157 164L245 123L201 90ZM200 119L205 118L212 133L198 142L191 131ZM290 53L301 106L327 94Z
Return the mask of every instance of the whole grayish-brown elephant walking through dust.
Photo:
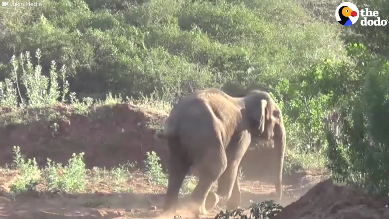
M253 90L235 98L216 88L199 90L174 106L164 131L156 136L167 140L171 155L165 214L175 213L179 189L192 165L198 166L199 172L199 182L191 194L195 215L206 214L206 207L212 209L222 200L230 210L239 207L238 168L252 138L273 138L275 188L280 200L286 133L281 111L268 93ZM216 180L216 200L208 206L207 196Z

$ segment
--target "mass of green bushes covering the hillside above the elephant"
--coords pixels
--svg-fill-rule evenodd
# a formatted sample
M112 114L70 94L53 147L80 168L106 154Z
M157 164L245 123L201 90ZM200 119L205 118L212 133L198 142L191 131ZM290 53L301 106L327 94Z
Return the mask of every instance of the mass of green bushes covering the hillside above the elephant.
M337 30L312 21L292 0L48 0L23 18L6 12L0 76L11 74L13 53L40 48L42 72L51 60L65 64L70 90L80 95L267 89L322 58L343 57ZM295 17L307 26L289 22Z

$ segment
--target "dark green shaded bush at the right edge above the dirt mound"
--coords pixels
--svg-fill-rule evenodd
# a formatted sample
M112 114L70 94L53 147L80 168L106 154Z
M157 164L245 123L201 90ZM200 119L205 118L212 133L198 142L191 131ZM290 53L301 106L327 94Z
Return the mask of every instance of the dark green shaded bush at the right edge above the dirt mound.
M361 87L340 110L341 131L328 127L328 167L339 182L389 194L389 61L375 59L366 62Z

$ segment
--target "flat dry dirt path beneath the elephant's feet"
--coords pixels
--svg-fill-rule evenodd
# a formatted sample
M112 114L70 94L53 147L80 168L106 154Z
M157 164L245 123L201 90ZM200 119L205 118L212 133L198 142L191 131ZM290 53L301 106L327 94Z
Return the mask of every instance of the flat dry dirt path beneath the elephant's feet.
M295 180L293 185L284 186L284 197L280 203L286 206L305 194L317 182L324 180L323 176L304 176ZM274 186L258 181L242 182L242 206L272 198ZM156 189L153 193L146 193L150 188L138 185L134 193L92 193L69 194L65 196L33 196L25 195L12 198L3 195L0 198L0 218L9 219L129 219L129 218L156 218L163 206L163 193ZM180 198L185 203L186 198ZM214 218L218 212L203 215L205 218ZM185 212L179 212L183 217Z

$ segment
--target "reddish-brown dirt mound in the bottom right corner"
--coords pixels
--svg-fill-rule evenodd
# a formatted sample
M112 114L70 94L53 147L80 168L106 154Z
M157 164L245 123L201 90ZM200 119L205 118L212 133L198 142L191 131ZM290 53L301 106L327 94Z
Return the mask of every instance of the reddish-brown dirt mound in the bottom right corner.
M389 198L368 195L354 186L324 180L286 206L274 219L385 219Z

